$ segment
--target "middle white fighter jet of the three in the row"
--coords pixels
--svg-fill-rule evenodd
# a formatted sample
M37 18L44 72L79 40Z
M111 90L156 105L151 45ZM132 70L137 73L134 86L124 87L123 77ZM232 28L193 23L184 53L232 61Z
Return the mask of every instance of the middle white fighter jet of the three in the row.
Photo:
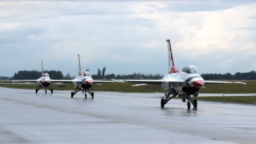
M74 92L71 92L71 97L73 98L74 95L76 95L77 92L82 90L84 97L86 98L86 92L88 92L92 98L94 97L94 93L90 91L93 90L92 84L100 84L100 83L113 83L115 81L94 81L91 77L90 72L86 71L84 74L81 72L81 65L80 65L80 57L79 54L78 56L78 76L75 79L72 80L54 80L55 82L58 83L74 83ZM85 93L84 93L85 92Z

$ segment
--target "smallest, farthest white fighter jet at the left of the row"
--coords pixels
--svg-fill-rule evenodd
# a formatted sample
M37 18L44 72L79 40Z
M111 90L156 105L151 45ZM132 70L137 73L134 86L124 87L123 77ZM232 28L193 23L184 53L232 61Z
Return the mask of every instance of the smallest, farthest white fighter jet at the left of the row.
M49 77L49 74L45 73L44 74L44 69L43 69L43 61L42 62L42 76L39 79L36 80L15 80L15 81L20 81L20 82L30 82L30 83L38 83L38 88L36 89L36 93L41 89L44 88L45 93L47 93L47 89L53 93L52 90L52 85L51 85L51 79Z

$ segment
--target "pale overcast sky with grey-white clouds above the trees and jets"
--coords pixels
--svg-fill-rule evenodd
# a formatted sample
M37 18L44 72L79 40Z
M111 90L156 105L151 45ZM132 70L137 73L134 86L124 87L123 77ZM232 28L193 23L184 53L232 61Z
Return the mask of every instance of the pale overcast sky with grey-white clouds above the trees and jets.
M256 70L256 2L0 1L0 76L77 76L77 54L83 72L167 74L167 39L180 70Z

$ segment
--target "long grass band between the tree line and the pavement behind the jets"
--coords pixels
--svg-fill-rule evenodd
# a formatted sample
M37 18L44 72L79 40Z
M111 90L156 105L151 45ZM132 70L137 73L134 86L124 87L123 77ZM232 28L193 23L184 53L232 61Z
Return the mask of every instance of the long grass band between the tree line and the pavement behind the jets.
M243 81L246 84L205 84L206 88L200 88L199 93L256 93L256 81ZM0 81L0 83L4 83ZM136 83L104 83L103 85L93 84L95 91L105 92L131 92L131 93L164 93L159 85L131 86ZM36 89L37 84L0 84L5 88ZM74 84L54 84L54 90L73 90ZM58 86L65 86L60 88Z

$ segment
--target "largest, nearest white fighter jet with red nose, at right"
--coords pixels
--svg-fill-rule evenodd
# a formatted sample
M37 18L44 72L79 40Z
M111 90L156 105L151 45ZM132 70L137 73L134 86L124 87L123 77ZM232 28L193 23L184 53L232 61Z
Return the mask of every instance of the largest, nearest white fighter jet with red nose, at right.
M165 99L161 99L161 108L173 97L179 96L182 102L186 102L190 108L190 102L194 108L197 108L197 100L191 99L191 95L197 97L200 88L204 87L204 84L224 84L224 83L238 83L246 84L242 82L227 82L227 81L204 81L204 79L198 74L198 69L194 65L186 65L182 68L182 71L174 66L172 47L170 40L166 40L168 45L168 57L169 57L169 68L168 74L159 80L125 80L130 83L141 83L132 86L140 86L145 84L159 84L163 86L165 92ZM170 95L172 95L170 97Z

